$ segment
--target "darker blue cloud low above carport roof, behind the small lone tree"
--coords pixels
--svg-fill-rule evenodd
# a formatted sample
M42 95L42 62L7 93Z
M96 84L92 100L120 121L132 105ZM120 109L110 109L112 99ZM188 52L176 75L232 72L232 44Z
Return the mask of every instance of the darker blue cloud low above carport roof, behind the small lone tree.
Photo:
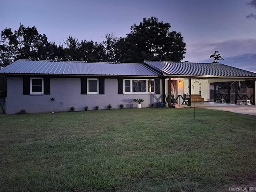
M210 59L201 62L212 62ZM236 56L230 56L220 61L222 64L237 67L240 69L256 72L256 53L248 53Z

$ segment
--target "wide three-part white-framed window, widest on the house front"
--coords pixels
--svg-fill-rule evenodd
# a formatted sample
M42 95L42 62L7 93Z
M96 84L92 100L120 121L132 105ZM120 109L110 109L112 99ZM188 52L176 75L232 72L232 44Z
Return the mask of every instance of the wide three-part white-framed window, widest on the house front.
M125 79L124 93L154 93L154 80Z

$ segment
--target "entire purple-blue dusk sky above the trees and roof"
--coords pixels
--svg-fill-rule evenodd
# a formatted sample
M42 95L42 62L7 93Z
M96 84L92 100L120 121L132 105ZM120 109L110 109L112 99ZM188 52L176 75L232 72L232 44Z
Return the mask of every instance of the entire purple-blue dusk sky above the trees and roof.
M8 0L0 5L0 29L36 26L60 44L69 35L101 42L106 33L126 36L142 18L156 16L181 32L184 60L212 62L220 51L228 64L256 72L256 7L250 0ZM253 0L256 2L256 0Z

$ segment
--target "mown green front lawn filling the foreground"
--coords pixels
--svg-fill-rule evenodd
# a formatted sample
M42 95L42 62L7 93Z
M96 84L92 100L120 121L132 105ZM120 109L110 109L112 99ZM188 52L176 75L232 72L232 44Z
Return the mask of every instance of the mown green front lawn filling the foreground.
M256 117L193 108L0 116L0 191L228 191L256 181Z

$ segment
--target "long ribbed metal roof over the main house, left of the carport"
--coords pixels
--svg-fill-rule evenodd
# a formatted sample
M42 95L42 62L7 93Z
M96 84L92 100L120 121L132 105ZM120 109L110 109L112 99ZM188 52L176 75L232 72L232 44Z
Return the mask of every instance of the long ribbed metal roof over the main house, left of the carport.
M2 74L159 76L143 64L17 60L0 70Z

